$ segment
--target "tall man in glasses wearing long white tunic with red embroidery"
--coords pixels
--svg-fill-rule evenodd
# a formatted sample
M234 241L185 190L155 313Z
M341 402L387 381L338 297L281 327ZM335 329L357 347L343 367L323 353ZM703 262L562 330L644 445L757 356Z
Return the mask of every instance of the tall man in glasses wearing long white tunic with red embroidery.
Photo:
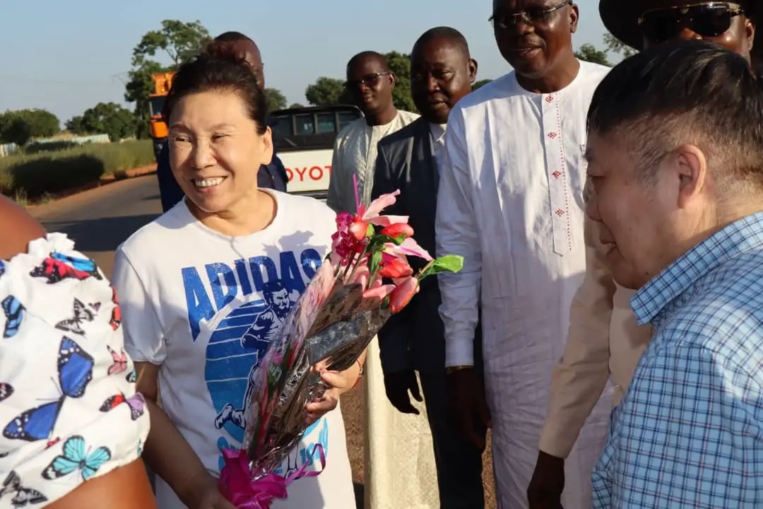
M481 308L498 507L522 509L585 270L586 113L609 69L575 58L571 1L494 0L489 21L514 70L449 115L436 251L463 256L464 267L439 275L440 314L451 417L468 429L487 417L473 366ZM610 408L594 409L569 457L566 509L590 507Z

